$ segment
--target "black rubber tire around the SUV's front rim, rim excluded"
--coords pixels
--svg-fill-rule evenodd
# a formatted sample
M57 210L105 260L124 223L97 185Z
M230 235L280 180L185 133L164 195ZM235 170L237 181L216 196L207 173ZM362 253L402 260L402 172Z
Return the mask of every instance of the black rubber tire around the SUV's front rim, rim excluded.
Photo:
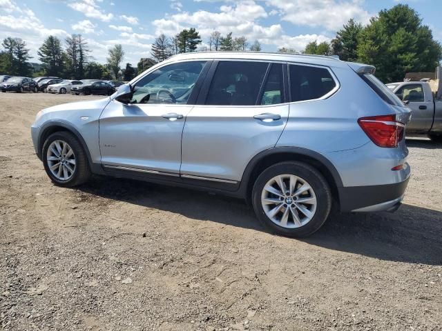
M66 141L70 148L73 149L73 152L75 154L74 173L73 176L66 181L57 179L57 177L55 177L49 169L47 160L48 148L50 144L55 140ZM46 174L48 174L50 180L56 185L65 188L72 188L74 186L81 185L82 183L86 183L86 181L88 181L90 177L91 172L88 164L88 158L86 157L86 152L84 151L84 148L83 146L81 146L81 143L78 141L77 137L75 137L70 132L61 131L50 134L50 136L43 144L43 148L41 149L41 156L43 159L43 165L44 169L46 170Z

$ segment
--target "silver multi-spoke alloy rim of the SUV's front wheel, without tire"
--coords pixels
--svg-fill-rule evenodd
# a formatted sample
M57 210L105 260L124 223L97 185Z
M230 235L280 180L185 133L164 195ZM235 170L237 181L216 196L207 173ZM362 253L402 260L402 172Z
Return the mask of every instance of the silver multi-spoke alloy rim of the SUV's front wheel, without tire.
M59 181L67 181L73 177L75 154L66 141L52 141L46 154L46 160L50 172Z

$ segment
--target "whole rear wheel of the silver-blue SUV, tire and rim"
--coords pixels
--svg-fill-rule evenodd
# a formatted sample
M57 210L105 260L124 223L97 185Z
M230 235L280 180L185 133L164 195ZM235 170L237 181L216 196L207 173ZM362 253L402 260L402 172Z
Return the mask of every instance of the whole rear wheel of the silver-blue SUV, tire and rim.
M264 170L253 185L253 209L262 223L287 237L316 232L332 208L332 193L318 170L282 162Z

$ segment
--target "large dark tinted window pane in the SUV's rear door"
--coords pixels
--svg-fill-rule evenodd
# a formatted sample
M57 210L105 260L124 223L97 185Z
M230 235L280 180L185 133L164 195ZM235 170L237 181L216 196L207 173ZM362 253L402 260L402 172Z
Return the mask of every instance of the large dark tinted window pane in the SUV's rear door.
M220 61L213 76L206 105L254 106L269 63Z

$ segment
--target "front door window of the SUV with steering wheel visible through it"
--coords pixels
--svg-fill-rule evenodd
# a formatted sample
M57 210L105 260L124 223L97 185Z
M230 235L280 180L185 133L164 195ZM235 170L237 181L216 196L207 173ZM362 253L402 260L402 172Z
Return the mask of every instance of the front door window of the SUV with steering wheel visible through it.
M173 63L151 72L135 84L131 103L186 104L205 64Z

